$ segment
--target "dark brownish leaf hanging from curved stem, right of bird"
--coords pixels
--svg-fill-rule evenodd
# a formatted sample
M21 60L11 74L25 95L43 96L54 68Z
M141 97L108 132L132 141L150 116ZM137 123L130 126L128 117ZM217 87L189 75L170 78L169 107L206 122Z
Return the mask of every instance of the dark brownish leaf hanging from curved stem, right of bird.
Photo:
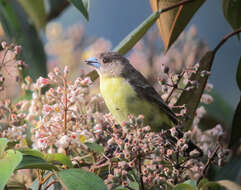
M184 121L183 125L185 129L189 129L192 125L195 111L200 103L201 96L203 94L204 88L207 84L207 80L209 75L203 75L203 72L209 72L212 67L214 52L208 51L200 60L199 68L196 73L193 73L190 77L191 81L196 81L198 83L197 88L192 88L189 91L183 91L179 99L177 100L176 106L184 105L187 109L187 115L189 119ZM191 86L191 84L187 84L187 87Z

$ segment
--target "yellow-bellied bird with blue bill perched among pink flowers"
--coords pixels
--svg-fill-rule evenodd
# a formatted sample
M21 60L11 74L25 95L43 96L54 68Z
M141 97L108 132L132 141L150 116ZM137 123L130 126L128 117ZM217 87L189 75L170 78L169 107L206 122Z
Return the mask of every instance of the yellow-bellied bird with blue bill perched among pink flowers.
M144 125L153 132L170 129L180 122L155 88L136 70L127 58L117 52L104 52L85 60L100 77L100 92L104 102L121 125L129 115L144 116ZM178 130L179 131L179 130ZM183 133L179 131L179 138ZM190 141L190 151L197 148Z

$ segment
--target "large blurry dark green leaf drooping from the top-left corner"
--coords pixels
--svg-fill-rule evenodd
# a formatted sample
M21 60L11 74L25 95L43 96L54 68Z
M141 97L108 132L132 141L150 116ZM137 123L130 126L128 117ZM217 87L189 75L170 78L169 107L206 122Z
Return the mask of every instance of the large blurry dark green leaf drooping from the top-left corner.
M33 79L46 75L46 55L38 33L16 0L0 0L0 22L5 34L23 46L22 59Z

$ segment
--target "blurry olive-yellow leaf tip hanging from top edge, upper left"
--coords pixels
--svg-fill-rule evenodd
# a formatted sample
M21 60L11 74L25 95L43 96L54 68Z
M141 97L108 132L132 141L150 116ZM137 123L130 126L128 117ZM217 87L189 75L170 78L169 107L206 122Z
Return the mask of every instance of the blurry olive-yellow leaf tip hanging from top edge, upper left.
M38 29L45 26L45 6L43 0L18 0Z

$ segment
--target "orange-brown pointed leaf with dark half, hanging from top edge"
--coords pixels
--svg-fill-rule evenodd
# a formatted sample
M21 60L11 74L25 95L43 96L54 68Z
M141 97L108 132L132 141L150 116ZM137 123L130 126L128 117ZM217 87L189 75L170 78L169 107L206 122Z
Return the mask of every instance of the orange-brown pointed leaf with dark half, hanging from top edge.
M180 0L150 0L154 12L175 5L178 2L180 2ZM204 2L205 0L195 0L160 15L157 26L166 51L176 41L180 33Z

